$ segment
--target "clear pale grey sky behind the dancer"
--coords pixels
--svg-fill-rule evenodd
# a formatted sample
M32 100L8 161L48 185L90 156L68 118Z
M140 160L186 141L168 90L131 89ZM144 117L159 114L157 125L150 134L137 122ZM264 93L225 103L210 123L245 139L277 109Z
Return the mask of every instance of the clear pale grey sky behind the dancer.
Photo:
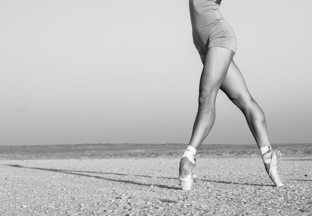
M311 8L221 3L271 143L312 142ZM188 1L1 1L0 26L0 145L189 142L202 63ZM203 143L255 143L222 91Z

